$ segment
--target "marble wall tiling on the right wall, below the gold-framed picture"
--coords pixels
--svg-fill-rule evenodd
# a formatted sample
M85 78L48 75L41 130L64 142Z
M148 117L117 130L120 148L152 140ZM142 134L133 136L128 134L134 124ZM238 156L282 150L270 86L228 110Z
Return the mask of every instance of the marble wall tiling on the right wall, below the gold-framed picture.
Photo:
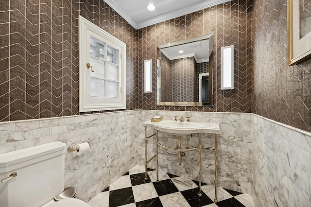
M311 133L252 115L252 145L255 206L311 207Z

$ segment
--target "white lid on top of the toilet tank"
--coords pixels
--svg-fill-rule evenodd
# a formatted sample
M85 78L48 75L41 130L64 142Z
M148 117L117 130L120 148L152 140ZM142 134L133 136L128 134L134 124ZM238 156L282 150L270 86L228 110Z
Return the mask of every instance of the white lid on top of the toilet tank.
M9 153L0 154L0 168L9 167L27 160L48 155L58 151L63 151L66 144L60 141L54 141L47 144L41 144L34 147L25 148ZM63 152L60 152L63 153Z

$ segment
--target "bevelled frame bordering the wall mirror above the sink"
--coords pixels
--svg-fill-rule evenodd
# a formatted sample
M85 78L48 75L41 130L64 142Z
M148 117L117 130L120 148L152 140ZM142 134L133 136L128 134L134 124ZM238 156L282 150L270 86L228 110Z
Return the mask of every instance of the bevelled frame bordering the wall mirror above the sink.
M211 54L209 55L209 60L208 60L208 64L209 64L209 68L208 68L208 73L209 73L209 94L208 94L208 102L160 102L158 99L156 100L156 105L169 105L169 106L213 106L213 48L214 48L214 39L213 39L213 34L210 35L204 35L204 36L199 36L199 37L193 37L190 39L184 39L181 41L177 41L177 42L171 42L171 43L167 43L164 45L159 45L157 48L157 59L160 59L160 51L161 49L164 48L168 48L168 47L172 47L172 46L177 46L177 45L182 45L182 44L187 44L190 42L197 42L197 41L201 41L204 39L209 39L209 47L208 47L208 52L210 49L212 49ZM160 82L161 83L161 66L159 63L159 66L157 66L157 68L160 68ZM156 78L158 78L158 76L156 76ZM211 81L210 81L211 80ZM158 87L158 86L156 86ZM161 90L160 90L161 93ZM156 97L158 97L159 94L156 94ZM159 96L160 97L160 96Z

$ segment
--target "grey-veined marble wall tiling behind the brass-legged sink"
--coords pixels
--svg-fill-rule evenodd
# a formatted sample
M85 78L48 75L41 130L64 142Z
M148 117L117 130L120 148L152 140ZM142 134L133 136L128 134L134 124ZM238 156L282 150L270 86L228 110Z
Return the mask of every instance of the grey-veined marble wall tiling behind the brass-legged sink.
M138 164L144 165L144 126L143 121L160 115L164 120L173 120L174 116L191 117L190 121L220 123L219 135L219 186L243 193L251 193L251 114L246 113L220 113L220 112L182 112L182 111L156 111L138 110ZM186 119L185 119L186 121ZM147 127L147 136L154 130ZM182 147L197 146L197 135L182 137ZM166 146L176 146L176 138L170 134L159 133L159 140ZM214 134L202 134L204 146L215 146ZM155 143L147 144L148 159L155 155ZM148 167L155 169L155 159L148 163ZM177 152L159 148L159 169L193 180L198 180L198 152L186 152L182 164L178 164ZM212 150L202 149L202 182L214 184L215 153Z

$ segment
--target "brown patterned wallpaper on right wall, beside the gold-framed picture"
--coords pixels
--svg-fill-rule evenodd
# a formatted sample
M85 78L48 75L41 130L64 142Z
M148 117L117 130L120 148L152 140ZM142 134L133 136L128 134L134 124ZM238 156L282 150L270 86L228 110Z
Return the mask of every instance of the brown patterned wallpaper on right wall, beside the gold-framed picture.
M254 2L253 113L311 132L311 58L287 66L287 1Z

